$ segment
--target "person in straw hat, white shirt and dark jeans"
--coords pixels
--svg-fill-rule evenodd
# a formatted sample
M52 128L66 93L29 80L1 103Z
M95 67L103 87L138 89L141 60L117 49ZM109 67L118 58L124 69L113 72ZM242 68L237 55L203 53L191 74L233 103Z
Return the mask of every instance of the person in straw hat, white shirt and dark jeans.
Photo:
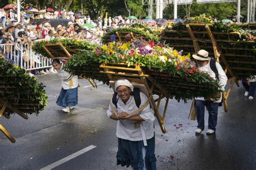
M220 66L218 62L216 62L216 67L218 70L218 77L216 77L215 73L210 67L210 62L213 62L211 58L208 56L208 52L204 49L201 49L198 51L197 54L192 55L194 59L196 59L197 66L201 72L206 72L212 77L214 80L218 80L219 85L221 86L222 91L224 91L226 83L227 83L227 76L223 70L223 68ZM205 101L204 97L197 97L196 100L196 111L197 111L197 122L198 126L195 131L196 134L201 133L205 128L205 104L207 101ZM213 134L216 131L217 126L217 119L218 119L218 107L219 103L222 100L222 94L219 94L215 100L211 99L207 102L207 108L208 108L208 130L206 131L206 134Z

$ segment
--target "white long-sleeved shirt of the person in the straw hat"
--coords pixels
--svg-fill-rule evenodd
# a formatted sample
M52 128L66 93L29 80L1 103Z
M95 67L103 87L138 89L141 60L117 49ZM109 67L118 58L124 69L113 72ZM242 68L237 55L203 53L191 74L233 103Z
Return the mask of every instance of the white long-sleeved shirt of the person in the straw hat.
M210 61L207 63L207 65L203 66L203 67L199 67L200 71L206 72L210 75L210 77L212 77L214 80L216 80L216 75L213 72L213 70L210 67ZM220 66L220 64L218 62L216 62L216 67L219 73L219 85L221 86L221 90L225 90L225 86L227 84L227 76L223 70L223 68ZM196 100L202 100L205 101L204 97L196 97ZM220 99L218 101L215 101L215 103L220 103L222 100L222 95L220 96Z

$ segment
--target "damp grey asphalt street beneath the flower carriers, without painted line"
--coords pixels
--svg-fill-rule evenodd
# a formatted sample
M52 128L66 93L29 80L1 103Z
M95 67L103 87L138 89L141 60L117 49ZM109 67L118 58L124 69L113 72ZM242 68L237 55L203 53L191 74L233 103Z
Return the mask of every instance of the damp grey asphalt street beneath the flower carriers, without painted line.
M57 74L39 76L38 80L46 86L48 107L28 120L18 115L0 118L0 124L16 139L12 144L0 133L0 169L49 165L55 166L53 169L126 169L116 166L116 122L106 117L112 89L101 83L92 88L86 80L79 80L78 107L65 114L55 103L61 88ZM164 109L164 103L161 105ZM191 101L169 101L166 134L156 121L158 169L256 169L256 100L245 98L244 88L234 86L228 112L219 108L213 136L205 133L207 113L206 130L194 134L197 122L187 119L190 105ZM84 153L77 153L80 150ZM74 153L75 158L57 162Z

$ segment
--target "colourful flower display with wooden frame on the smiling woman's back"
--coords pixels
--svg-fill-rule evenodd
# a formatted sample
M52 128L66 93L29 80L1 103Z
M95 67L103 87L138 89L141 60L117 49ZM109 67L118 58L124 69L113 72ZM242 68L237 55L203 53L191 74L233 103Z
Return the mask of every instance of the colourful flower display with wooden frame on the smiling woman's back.
M181 51L153 41L110 42L73 54L64 68L106 84L121 78L143 84L163 133L169 98L185 102L199 96L211 98L221 89L217 81L194 66L189 54L182 55ZM153 94L158 98L153 98ZM165 108L160 114L163 98Z

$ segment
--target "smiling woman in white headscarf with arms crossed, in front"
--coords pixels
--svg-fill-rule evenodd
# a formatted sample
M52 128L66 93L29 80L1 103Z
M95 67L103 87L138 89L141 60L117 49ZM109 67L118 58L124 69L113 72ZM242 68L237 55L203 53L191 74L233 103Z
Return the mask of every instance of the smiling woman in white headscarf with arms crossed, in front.
M117 93L117 107L110 100L107 117L117 121L117 165L131 165L133 169L156 169L153 122L155 118L147 103L148 97L139 92L139 107L146 107L127 118L126 116L139 109L134 100L133 86L130 81L119 79L114 84L114 90Z

